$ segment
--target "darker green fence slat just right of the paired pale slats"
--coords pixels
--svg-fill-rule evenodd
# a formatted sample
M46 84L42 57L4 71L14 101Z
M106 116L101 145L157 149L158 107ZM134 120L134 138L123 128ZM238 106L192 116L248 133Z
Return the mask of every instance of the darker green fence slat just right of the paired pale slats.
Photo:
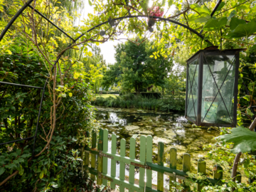
M159 166L164 166L164 143L158 143L158 155L157 155L157 164ZM164 191L164 174L157 172L157 190Z

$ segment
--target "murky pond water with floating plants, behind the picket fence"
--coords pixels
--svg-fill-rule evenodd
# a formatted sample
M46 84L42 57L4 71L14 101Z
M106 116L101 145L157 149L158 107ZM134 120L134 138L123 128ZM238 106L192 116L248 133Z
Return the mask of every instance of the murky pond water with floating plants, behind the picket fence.
M215 129L191 126L183 112L167 113L107 107L96 107L96 109L96 119L100 122L100 127L109 131L109 151L111 151L112 134L117 135L117 154L120 153L120 140L126 140L126 156L129 156L129 139L136 137L136 159L139 159L139 137L151 135L153 137L153 162L157 163L158 142L164 142L164 166L169 166L170 148L176 147L177 169L179 170L182 170L183 153L188 153L191 154L191 171L196 173L198 159L203 159L206 155L206 151L203 151L203 144L213 143L213 137L219 135L218 130ZM108 165L110 165L110 159L108 160ZM108 174L110 174L110 166L108 166ZM210 169L208 169L208 174L211 174ZM129 176L129 166L126 166L125 175ZM116 176L119 176L119 162L117 162ZM155 171L152 177L152 183L156 184ZM135 178L139 178L139 169L136 171ZM164 175L166 188L169 188L168 183L169 176Z

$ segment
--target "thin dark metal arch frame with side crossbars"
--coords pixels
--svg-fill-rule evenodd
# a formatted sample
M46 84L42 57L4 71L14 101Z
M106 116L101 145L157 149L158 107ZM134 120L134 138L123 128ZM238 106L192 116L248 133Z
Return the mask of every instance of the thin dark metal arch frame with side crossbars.
M11 21L9 21L9 23L6 25L6 27L4 28L4 30L1 32L1 35L0 35L0 41L4 38L6 32L9 30L9 28L12 26L12 24L14 23L14 21L16 21L16 18L18 18L18 16L20 16L23 11L26 9L26 8L31 8L33 11L35 11L38 15L40 15L41 17L43 17L44 19L46 19L46 21L48 21L50 24L52 24L55 28L57 28L59 31L61 31L63 34L65 34L65 36L68 36L68 38L70 38L73 43L75 43L76 41L78 41L82 36L85 35L85 33L82 33L80 36L78 36L78 38L72 38L71 36L68 35L68 33L65 33L65 31L63 31L62 29L60 29L58 26L56 26L52 21L50 21L46 16L44 16L43 14L41 14L40 11L36 10L33 6L31 6L31 3L33 2L34 0L28 0L26 2L26 4L24 4L21 9L19 9L17 11L17 13L14 15L13 18L11 18ZM218 3L216 4L215 8L213 9L212 11L212 14L211 16L213 16L213 14L215 13L215 11L218 9L218 6L220 5L220 2L222 0L219 0ZM113 18L114 21L119 21L119 20L122 20L124 18L139 18L139 17L143 17L143 18L149 18L149 16L146 16L146 15L139 15L139 16L132 16L132 15L129 15L129 16L122 16L122 17L119 17L119 18ZM196 30L194 30L193 28L189 27L189 26L186 26L184 25L183 23L180 23L178 21L174 21L172 19L169 19L169 18L163 18L163 17L159 17L159 16L150 16L150 18L157 18L159 19L159 21L169 21L171 23L175 23L177 24L178 26L182 26L183 28L187 28L189 31L195 33L198 37L200 37L203 41L203 36L202 36L202 32L203 32L203 29L201 30L200 33L198 33ZM94 30L95 28L97 27L100 27L104 24L108 23L108 21L105 21L105 22L102 22L92 28L90 28L89 30L86 31L86 33ZM207 43L210 43L210 41L206 40ZM210 43L212 46L213 46L213 43ZM69 44L67 48L69 48L70 46L72 46L72 44ZM66 49L68 50L68 49ZM53 68L55 67L55 65L58 63L58 60L60 60L61 56L65 53L65 51L63 51L63 53L60 53L60 55L58 55L58 57L56 58L55 60L55 63L53 65L53 67L51 68L51 70L53 71ZM49 74L50 75L50 74ZM31 86L31 85L20 85L20 84L15 84L15 83L11 83L11 82L0 82L1 84L4 84L4 85L15 85L15 86L21 86L21 87L31 87L31 88L37 88L37 89L41 89L43 90L42 92L42 95L41 95L41 102L40 102L40 107L39 107L39 111L38 111L38 119L37 119L37 123L36 123L36 132L34 134L33 137L28 137L28 138L24 138L24 139L18 139L18 140L15 140L15 141L11 141L11 142L5 142L5 143L1 143L1 145L4 145L4 144L11 144L11 143L14 143L14 142L21 142L23 140L28 140L28 139L33 139L33 151L32 151L32 158L34 157L34 151L35 151L35 146L36 146L36 137L37 137L37 132L38 132L38 125L39 125L39 120L40 120L40 116L41 116L41 108L42 108L42 103L43 103L43 97L44 97L44 94L46 92L46 85L47 85L47 82L48 82L48 78L46 79L46 82L44 84L43 87L35 87L35 86Z

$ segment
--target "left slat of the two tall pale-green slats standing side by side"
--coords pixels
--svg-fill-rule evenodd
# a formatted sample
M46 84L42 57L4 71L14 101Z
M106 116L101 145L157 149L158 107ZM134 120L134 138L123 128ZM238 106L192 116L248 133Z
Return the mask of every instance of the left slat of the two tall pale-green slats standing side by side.
M139 154L139 160L140 161L146 161L146 137L142 135L140 137L140 154ZM145 169L139 168L139 186L144 187L145 186Z

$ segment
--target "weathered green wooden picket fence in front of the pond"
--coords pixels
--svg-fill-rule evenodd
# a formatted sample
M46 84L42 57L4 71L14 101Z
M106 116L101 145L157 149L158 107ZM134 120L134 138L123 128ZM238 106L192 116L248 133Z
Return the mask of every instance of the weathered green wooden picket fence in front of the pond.
M170 149L170 166L164 166L164 143L158 143L158 156L157 164L152 163L152 137L141 136L139 146L139 159L135 159L135 138L132 137L129 143L129 157L126 154L126 141L121 139L120 154L117 154L117 136L112 134L111 138L111 151L108 151L108 130L100 129L99 137L97 141L97 133L92 132L92 144L91 146L84 146L82 149L83 163L79 169L83 174L89 176L98 185L107 186L107 182L110 182L112 189L119 186L119 191L124 191L127 188L129 191L164 191L164 174L169 176L169 186L174 185L172 181L176 179L184 180L188 178L186 174L191 171L191 156L190 154L183 154L183 170L177 170L177 149ZM86 133L87 137L90 137L90 133ZM96 148L97 147L97 148ZM97 157L97 158L96 158ZM107 164L107 159L111 159L111 164ZM119 178L116 177L116 164L119 164ZM129 181L125 180L125 164L129 164ZM111 166L111 173L107 174L107 167ZM135 166L139 167L139 184L134 183L134 169ZM152 171L157 172L157 190L152 188L151 178ZM206 162L198 161L198 173L206 174ZM146 178L146 182L145 182ZM223 168L215 165L213 167L213 178L207 178L208 184L215 185L221 183L223 178ZM196 181L196 179L194 179ZM206 184L205 181L205 184ZM241 177L238 178L241 182ZM197 183L198 191L203 188L202 183ZM189 186L188 186L189 191Z

